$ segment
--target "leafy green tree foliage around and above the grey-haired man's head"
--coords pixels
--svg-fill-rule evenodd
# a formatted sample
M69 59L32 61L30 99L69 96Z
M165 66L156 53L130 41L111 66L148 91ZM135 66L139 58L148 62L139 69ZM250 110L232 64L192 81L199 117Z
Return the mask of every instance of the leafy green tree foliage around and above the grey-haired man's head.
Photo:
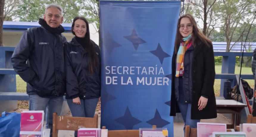
M82 9L82 0L23 0L18 6L18 10L15 13L20 21L32 21L37 22L39 18L43 18L45 13L45 7L51 3L57 3L63 8L63 23L72 23L74 17L79 15L79 11Z

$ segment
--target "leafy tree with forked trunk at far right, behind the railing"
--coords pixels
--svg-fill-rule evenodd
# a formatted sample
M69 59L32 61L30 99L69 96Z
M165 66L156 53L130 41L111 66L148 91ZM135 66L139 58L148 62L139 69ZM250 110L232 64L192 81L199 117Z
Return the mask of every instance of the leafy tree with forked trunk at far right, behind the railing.
M255 10L255 0L221 0L218 4L219 18L223 23L223 30L227 40L226 51L229 52L234 45L230 47L230 43L233 40L233 36L237 27L241 25L241 22L247 21L247 26L251 23L253 18L253 12ZM244 26L245 27L245 26ZM247 27L245 27L247 28ZM240 35L242 37L242 35ZM239 40L239 39L238 39ZM237 40L237 41L238 41Z

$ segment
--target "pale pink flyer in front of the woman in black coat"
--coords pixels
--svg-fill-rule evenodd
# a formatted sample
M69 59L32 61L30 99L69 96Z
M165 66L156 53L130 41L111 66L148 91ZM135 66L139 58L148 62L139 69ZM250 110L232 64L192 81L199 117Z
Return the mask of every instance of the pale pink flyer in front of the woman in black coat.
M213 132L227 132L227 124L197 123L197 137L213 137Z

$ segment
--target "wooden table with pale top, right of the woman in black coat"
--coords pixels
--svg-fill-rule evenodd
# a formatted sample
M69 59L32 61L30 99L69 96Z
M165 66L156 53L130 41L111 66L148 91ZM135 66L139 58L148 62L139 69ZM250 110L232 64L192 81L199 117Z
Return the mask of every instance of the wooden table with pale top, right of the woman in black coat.
M232 114L232 124L227 124L227 129L235 129L241 122L241 111L246 104L237 102L236 100L225 100L223 97L216 97L217 113Z

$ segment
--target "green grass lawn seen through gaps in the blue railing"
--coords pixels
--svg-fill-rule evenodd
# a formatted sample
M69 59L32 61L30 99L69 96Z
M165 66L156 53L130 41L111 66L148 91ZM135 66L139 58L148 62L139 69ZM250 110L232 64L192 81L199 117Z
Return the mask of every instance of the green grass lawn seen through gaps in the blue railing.
M216 74L221 74L221 66L215 66ZM240 67L235 67L235 74L239 74ZM250 67L242 67L241 74L252 74L252 69ZM19 75L16 75L17 81L17 92L26 92L26 82L24 82ZM254 80L246 80L251 88L254 88ZM220 95L220 79L216 79L214 83L215 95ZM26 101L19 101L18 108L28 109L28 104Z

